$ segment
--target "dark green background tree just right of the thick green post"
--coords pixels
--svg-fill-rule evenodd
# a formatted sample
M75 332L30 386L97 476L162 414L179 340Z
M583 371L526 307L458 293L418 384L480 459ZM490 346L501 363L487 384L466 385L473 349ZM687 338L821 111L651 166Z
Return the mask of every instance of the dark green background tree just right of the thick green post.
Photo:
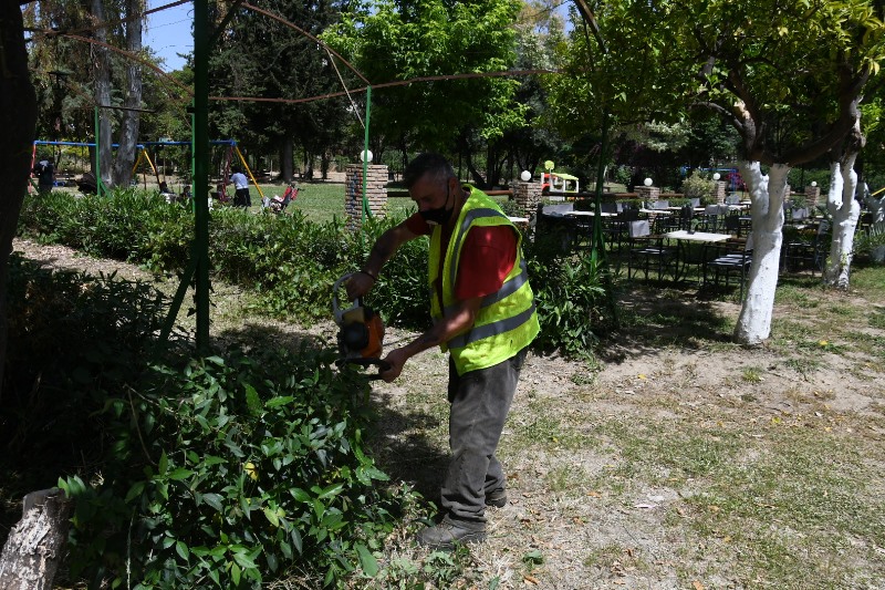
M212 48L210 76L216 95L296 100L341 90L329 53L285 23L316 37L337 19L335 1L273 0L262 3L267 13L236 10L226 34ZM275 151L287 180L292 178L294 143L310 154L309 159L323 156L341 137L348 116L342 99L216 104L211 123L217 133L247 146Z

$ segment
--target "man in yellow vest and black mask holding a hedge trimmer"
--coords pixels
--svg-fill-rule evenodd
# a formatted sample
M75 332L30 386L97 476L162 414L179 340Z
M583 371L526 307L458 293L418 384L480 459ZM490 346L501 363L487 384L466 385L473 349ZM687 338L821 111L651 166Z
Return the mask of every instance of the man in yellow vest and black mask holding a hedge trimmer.
M534 298L522 258L522 236L481 190L461 186L451 165L421 154L404 173L418 213L388 229L363 269L347 283L362 297L406 241L430 236L428 277L434 325L391 351L391 382L415 354L449 351L449 446L441 489L442 521L418 534L418 542L450 548L486 538L486 506L507 504L504 474L494 457L529 343L539 332Z

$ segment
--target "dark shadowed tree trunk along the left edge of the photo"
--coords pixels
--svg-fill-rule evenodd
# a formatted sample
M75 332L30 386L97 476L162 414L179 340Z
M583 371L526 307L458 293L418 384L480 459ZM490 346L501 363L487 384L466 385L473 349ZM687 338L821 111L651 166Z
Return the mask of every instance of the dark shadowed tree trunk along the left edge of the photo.
M28 72L28 52L18 2L0 2L0 389L7 358L7 277L12 238L31 175L37 133L37 94ZM0 391L2 397L2 391Z

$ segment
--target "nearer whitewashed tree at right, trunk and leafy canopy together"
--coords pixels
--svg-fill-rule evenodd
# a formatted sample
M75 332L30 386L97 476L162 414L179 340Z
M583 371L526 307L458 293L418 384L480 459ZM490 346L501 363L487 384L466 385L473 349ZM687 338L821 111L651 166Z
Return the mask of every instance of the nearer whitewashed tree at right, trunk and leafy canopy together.
M708 108L741 136L754 251L735 330L739 342L769 337L787 175L839 148L856 128L864 86L883 56L881 10L871 0L601 7L602 38L625 49L621 75L637 86L625 82L625 102L649 106L649 114L666 114L667 103L674 113L686 105ZM648 79L637 75L642 71ZM655 96L643 94L649 84Z

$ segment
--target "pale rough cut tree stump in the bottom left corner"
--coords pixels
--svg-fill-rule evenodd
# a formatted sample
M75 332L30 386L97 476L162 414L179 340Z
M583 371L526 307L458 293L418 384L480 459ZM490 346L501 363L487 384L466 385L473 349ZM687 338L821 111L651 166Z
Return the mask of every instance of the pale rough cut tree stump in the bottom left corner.
M0 556L0 590L50 590L67 544L71 501L60 489L24 497Z

